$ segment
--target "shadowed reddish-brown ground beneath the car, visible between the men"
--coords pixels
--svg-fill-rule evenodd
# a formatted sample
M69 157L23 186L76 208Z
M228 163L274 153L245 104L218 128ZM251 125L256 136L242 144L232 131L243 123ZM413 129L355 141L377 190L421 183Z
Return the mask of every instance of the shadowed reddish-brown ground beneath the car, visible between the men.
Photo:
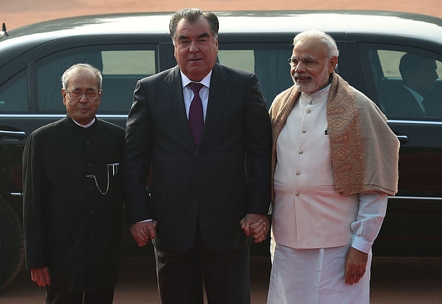
M251 258L251 303L265 304L267 257ZM379 258L372 264L371 304L441 304L442 258ZM0 292L1 304L42 304L44 288L23 270ZM124 258L114 304L159 304L153 258ZM356 304L356 303L355 303Z

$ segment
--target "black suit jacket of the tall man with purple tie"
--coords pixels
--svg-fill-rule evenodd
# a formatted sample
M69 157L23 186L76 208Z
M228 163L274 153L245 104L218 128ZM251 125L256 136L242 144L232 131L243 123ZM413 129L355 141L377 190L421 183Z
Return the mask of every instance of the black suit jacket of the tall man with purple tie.
M178 66L137 82L124 148L129 224L157 220L153 243L162 250L190 249L197 220L213 251L248 245L241 218L267 214L270 202L266 104L255 74L216 64L197 146Z

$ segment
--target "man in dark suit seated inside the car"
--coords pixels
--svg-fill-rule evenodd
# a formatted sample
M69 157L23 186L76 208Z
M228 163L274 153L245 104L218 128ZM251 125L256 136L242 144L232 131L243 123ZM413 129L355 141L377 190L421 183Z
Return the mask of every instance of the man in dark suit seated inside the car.
M407 53L401 57L399 72L403 85L390 92L386 101L387 115L401 117L437 117L442 115L441 104L432 100L436 79L436 61Z

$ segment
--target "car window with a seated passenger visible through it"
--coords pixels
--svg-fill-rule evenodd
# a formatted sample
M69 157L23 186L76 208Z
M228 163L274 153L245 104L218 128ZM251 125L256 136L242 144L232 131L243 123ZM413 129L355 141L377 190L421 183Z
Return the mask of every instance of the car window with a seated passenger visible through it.
M442 62L418 50L371 49L381 108L388 117L442 118Z

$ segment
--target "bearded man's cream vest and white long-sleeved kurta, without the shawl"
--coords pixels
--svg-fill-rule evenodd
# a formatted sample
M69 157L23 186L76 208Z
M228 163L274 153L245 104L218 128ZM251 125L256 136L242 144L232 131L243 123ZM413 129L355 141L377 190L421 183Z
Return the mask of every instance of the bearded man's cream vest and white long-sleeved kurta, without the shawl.
M370 191L341 196L336 191L327 135L328 95L329 87L302 93L276 143L269 304L369 303L371 246L385 216L387 195ZM369 259L361 281L345 285L350 245Z

